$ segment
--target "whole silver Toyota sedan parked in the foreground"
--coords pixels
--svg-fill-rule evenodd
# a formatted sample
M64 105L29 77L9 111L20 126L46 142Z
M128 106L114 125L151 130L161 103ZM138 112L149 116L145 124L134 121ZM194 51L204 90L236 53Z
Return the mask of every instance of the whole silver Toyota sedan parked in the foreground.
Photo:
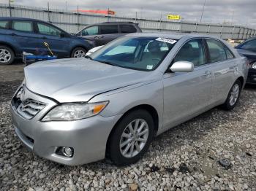
M19 139L66 165L137 162L158 136L208 109L233 109L246 58L213 36L129 34L86 58L34 63L12 98Z

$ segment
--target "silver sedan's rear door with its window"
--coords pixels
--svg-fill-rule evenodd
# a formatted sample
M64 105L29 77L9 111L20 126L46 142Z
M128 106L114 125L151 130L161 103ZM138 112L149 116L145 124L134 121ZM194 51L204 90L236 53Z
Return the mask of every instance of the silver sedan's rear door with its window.
M225 101L238 71L238 63L229 48L217 39L205 39L213 74L210 104Z

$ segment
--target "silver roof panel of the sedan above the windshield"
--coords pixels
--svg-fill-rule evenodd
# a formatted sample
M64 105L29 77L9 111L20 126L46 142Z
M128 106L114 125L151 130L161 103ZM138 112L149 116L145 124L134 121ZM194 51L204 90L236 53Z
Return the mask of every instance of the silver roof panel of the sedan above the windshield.
M127 36L154 36L154 37L162 37L162 38L168 38L168 39L181 39L183 37L187 38L213 38L213 39L219 39L216 36L210 36L205 34L184 34L184 33L166 33L166 32L159 32L159 33L134 33L134 34L127 34Z

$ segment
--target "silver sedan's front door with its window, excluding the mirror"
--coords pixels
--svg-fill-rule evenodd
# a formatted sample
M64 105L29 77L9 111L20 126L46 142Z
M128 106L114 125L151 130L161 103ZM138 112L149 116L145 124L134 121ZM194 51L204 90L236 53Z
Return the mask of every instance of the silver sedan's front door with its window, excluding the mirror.
M184 44L173 58L194 63L192 72L167 72L164 74L165 128L178 125L206 111L211 92L211 65L206 64L206 51L202 39L192 39Z

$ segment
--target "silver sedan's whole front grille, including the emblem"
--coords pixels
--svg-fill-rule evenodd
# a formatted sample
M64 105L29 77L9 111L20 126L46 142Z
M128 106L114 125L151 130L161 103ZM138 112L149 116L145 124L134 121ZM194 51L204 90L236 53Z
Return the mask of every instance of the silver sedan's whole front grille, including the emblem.
M26 91L23 87L20 88L18 93L12 99L12 106L21 117L26 120L31 120L36 116L47 104L36 101L29 96L26 96Z

